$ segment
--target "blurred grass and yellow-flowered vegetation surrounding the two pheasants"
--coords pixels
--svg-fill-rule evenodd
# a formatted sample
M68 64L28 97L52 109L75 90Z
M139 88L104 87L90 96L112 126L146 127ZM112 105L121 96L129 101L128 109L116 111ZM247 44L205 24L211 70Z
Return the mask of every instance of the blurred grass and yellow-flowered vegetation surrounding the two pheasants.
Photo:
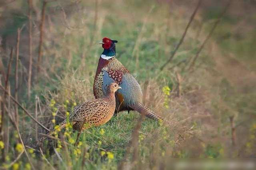
M1 1L0 168L168 169L171 158L255 158L256 1L199 2ZM32 148L46 133L32 117L56 128L94 99L103 37L118 40L116 57L165 121L122 112L85 130L76 147L77 132L65 129L52 156Z

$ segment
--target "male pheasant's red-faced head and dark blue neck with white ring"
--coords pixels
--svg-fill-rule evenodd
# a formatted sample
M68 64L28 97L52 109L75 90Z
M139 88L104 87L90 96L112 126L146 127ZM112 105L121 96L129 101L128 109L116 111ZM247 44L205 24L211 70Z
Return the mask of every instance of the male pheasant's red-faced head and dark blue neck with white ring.
M103 59L106 59L106 60L114 57L116 55L115 43L117 43L117 42L118 41L112 40L107 37L103 38L102 42L99 43L99 44L102 44L102 47L104 48L104 51L100 57L102 57Z

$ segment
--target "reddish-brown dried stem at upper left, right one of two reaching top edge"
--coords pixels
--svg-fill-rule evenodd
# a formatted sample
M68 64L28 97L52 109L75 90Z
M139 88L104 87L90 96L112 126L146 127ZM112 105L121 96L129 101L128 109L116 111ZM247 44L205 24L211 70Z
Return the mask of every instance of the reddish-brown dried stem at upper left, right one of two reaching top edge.
M42 57L42 46L43 46L43 38L44 38L44 21L45 21L45 8L47 2L43 2L42 7L42 17L41 17L41 24L40 24L40 40L39 40L39 50L38 50L38 61L37 61L37 73L40 72L40 62Z

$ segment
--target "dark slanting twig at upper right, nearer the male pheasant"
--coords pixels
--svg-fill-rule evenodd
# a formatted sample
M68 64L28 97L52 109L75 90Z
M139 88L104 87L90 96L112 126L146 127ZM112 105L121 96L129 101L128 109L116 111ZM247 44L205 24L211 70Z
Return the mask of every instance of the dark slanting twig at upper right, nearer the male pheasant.
M202 0L198 0L198 4L197 4L197 6L196 6L194 12L192 13L192 15L191 15L191 17L190 17L190 20L189 20L189 22L188 22L188 25L187 25L186 28L185 28L184 33L182 34L182 37L181 37L181 39L180 39L180 42L178 43L178 45L176 46L176 48L175 48L174 51L172 52L172 55L170 56L170 58L166 61L166 63L164 63L164 65L162 65L162 67L160 67L160 70L161 70L161 71L164 69L164 67L165 67L170 61L172 61L174 55L176 54L177 50L179 49L180 45L182 44L182 42L183 42L183 40L184 40L184 38L185 38L185 36L186 36L186 34L187 34L188 28L190 27L190 24L191 24L192 20L194 19L194 16L196 15L196 12L198 11L198 8L199 8L201 2L202 2Z

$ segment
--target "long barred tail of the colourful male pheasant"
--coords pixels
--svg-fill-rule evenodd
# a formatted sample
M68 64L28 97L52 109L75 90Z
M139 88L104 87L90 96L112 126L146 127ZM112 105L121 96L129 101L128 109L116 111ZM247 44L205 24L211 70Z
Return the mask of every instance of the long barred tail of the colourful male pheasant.
M148 109L146 106L144 106L142 103L135 103L134 105L130 105L132 109L139 112L142 115L145 115L146 117L154 120L162 120L162 117L154 113L152 110Z

